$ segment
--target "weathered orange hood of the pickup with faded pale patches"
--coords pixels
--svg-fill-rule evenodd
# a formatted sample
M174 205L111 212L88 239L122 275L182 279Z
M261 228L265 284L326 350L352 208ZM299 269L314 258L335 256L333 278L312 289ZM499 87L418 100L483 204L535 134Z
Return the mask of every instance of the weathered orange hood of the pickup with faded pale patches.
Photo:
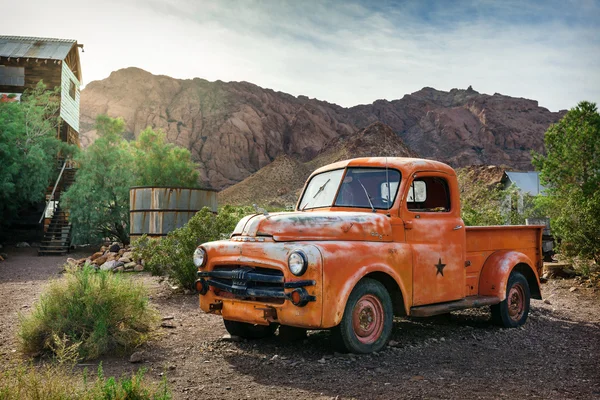
M232 236L272 236L281 242L363 240L389 242L389 217L369 212L283 212L243 218Z

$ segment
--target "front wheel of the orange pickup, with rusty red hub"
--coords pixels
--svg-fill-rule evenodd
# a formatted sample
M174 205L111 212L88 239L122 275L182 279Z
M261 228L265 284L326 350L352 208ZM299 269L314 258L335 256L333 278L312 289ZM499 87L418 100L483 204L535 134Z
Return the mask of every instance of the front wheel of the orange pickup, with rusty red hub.
M334 345L352 353L379 351L392 334L393 320L392 299L385 286L363 279L350 293L342 321L333 329Z

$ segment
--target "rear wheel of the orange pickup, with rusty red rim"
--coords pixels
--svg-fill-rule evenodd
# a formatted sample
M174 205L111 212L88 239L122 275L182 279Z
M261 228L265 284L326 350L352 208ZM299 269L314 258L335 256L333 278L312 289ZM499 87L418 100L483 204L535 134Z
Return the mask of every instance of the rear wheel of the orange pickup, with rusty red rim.
M505 328L517 328L527 321L531 293L527 279L520 272L512 272L506 285L504 301L491 306L492 321Z

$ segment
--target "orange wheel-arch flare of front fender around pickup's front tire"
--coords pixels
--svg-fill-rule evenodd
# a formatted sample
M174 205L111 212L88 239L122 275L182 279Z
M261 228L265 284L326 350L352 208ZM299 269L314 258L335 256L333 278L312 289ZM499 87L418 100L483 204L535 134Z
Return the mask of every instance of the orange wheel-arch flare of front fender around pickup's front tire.
M356 284L367 275L379 272L384 273L391 277L398 285L400 289L400 294L403 299L404 312L406 315L409 314L410 304L407 301L408 297L406 293L406 288L400 279L400 276L393 268L386 264L371 264L365 265L360 268L357 268L356 271L346 280L344 286L340 289L339 295L337 296L337 301L335 304L331 304L330 307L323 308L323 327L331 328L338 325L342 321L342 317L344 316L344 309L346 308L346 302L350 297L350 293L356 286ZM374 278L376 279L376 278ZM392 300L394 300L394 294L390 293L392 296Z

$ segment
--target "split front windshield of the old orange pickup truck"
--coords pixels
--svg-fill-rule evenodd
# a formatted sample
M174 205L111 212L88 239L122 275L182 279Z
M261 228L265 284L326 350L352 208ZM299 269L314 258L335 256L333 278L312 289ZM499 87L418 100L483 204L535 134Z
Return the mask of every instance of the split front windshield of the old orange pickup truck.
M300 201L300 210L332 205L387 210L394 204L400 186L398 170L354 167L343 173L344 170L335 170L313 176Z

